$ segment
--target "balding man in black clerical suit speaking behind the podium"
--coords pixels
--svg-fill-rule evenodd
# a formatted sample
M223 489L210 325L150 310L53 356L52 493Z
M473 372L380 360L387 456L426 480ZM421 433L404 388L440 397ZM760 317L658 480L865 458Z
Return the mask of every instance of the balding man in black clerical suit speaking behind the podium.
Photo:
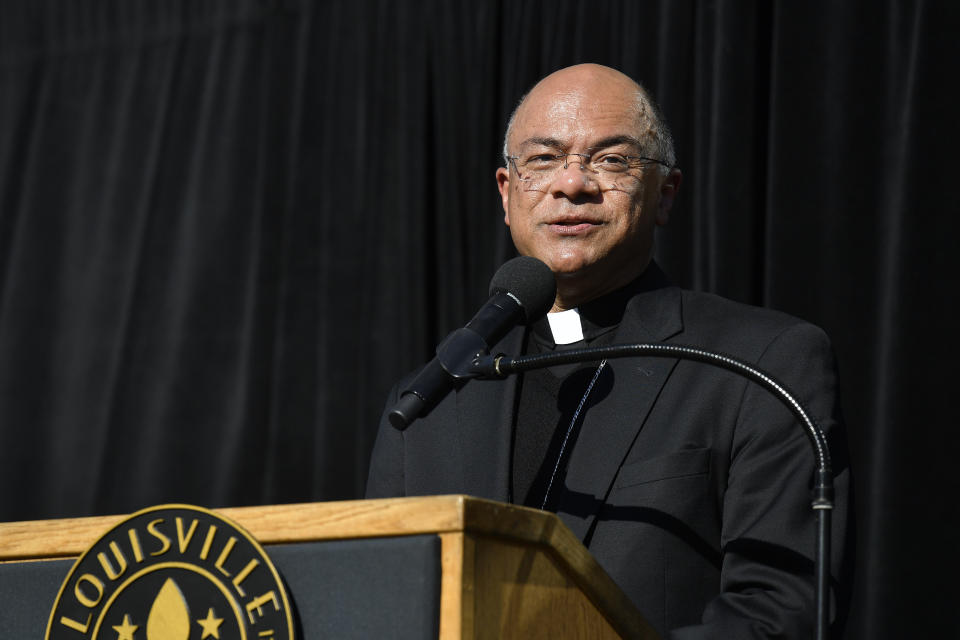
M511 118L505 155L504 221L517 250L554 272L557 295L546 320L494 352L665 341L729 353L783 380L840 442L819 329L677 289L651 260L681 174L639 85L598 65L547 76ZM849 512L841 454L834 576ZM758 386L635 358L473 381L402 435L384 420L367 495L550 509L672 638L809 638L813 466L803 430Z

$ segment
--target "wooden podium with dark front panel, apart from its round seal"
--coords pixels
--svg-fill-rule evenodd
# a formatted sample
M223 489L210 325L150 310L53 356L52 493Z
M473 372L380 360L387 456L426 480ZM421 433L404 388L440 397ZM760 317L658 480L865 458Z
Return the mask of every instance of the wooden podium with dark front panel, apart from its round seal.
M302 638L658 637L553 514L466 496L217 513L264 546ZM0 596L18 612L2 635L42 637L72 558L124 517L0 523Z

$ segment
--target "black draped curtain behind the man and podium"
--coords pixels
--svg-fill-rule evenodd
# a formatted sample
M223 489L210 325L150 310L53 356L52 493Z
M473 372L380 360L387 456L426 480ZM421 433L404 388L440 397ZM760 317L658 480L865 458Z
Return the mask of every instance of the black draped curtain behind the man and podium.
M955 637L958 6L0 2L0 520L359 497L512 255L511 108L591 61L672 124L674 281L834 340L849 637Z

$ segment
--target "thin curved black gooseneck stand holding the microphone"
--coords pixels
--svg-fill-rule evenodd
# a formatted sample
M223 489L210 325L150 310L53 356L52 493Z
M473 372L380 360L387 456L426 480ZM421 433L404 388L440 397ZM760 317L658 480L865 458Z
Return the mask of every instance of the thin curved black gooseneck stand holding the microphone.
M790 409L803 426L816 457L814 472L813 502L816 514L816 638L827 640L830 624L828 594L830 587L830 518L833 510L833 471L830 466L830 449L827 438L817 423L810 417L800 402L786 388L763 371L728 355L704 351L697 347L673 344L625 344L606 347L587 347L557 353L546 353L512 358L489 356L477 353L469 365L470 374L464 377L505 378L511 373L542 369L559 364L590 362L592 360L653 356L694 360L732 371L759 384L777 397Z

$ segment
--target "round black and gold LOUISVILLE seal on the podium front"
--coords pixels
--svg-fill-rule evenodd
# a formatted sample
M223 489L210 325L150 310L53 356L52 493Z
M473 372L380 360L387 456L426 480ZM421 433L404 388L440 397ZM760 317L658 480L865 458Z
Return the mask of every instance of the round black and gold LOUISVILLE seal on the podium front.
M263 548L208 509L138 511L80 556L47 640L293 640L286 590Z

